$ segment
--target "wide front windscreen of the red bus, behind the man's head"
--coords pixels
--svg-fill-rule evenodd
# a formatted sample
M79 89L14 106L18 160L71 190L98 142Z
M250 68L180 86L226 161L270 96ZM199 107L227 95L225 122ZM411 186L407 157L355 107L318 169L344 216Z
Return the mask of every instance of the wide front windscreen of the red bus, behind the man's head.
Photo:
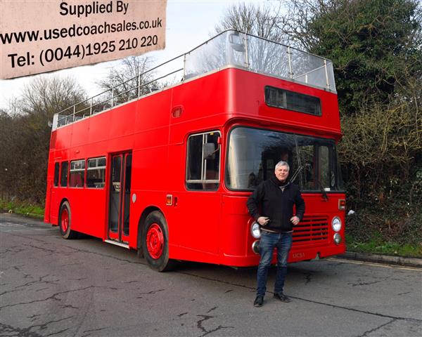
M290 166L289 178L302 192L343 191L335 142L293 133L236 127L229 136L226 186L253 190L274 175L279 161Z

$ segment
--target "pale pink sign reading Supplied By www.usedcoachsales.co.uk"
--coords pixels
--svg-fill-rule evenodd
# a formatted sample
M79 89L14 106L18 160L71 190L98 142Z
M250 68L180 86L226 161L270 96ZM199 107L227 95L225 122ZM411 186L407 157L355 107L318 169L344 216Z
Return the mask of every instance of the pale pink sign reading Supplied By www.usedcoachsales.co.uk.
M0 0L0 79L165 48L167 0Z

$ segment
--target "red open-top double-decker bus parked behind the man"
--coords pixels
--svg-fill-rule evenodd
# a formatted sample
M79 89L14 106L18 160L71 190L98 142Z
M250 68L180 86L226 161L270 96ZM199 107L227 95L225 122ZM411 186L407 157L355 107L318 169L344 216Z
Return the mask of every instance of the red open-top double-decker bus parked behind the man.
M289 261L345 251L329 60L228 30L128 82L54 116L44 221L65 239L136 249L160 271L257 265L246 200L283 159L306 203Z

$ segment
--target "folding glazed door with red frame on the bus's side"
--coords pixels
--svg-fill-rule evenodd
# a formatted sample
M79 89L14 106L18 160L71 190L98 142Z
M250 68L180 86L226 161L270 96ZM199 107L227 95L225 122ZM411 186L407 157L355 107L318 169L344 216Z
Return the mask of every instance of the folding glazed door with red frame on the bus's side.
M108 205L108 238L129 242L130 183L132 153L113 154L110 167L110 198Z

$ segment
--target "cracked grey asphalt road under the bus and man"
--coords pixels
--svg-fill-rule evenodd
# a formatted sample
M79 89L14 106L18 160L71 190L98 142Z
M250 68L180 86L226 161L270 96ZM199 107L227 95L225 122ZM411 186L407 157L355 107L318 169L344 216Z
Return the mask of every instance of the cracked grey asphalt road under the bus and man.
M295 263L293 301L267 293L262 308L255 273L201 263L158 273L134 251L0 214L0 336L422 336L421 269Z

